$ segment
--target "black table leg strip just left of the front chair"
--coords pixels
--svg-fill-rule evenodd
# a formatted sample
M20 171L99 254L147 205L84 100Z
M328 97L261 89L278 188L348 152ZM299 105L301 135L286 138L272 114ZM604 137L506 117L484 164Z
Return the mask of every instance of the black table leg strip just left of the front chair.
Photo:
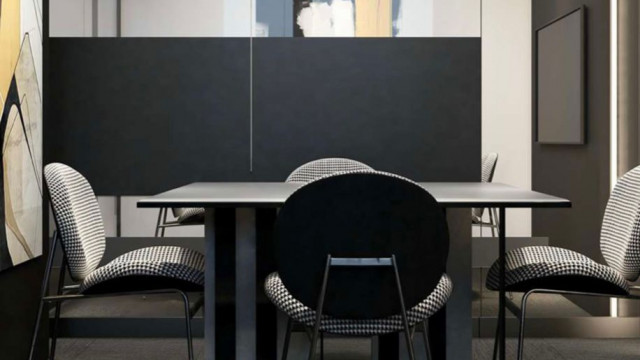
M276 215L276 209L256 209L256 347L259 360L275 360L278 356L278 314L264 294L264 280L276 269L273 245Z

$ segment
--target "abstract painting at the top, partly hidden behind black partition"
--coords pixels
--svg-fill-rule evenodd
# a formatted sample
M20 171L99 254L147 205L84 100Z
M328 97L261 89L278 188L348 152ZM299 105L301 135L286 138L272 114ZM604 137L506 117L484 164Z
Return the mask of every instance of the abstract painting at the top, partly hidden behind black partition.
M294 0L296 37L391 37L392 0Z

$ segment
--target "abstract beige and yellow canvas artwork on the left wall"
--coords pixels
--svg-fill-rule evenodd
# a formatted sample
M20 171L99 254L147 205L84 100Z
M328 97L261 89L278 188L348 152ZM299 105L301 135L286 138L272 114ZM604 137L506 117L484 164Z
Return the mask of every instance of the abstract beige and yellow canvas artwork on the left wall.
M28 32L20 36L20 5L0 3L0 270L42 255L42 98L34 56L42 45Z

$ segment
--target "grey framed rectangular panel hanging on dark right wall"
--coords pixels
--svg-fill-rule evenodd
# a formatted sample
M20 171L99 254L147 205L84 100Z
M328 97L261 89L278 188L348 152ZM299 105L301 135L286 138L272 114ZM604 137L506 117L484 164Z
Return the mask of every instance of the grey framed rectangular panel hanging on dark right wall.
M540 144L585 143L585 12L578 7L533 38L533 121Z

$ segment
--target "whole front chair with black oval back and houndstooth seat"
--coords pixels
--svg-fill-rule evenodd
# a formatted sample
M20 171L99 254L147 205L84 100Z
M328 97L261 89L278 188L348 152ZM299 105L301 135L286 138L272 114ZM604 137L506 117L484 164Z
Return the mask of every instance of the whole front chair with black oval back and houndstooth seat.
M324 169L327 169L327 167L324 166ZM287 358L288 344L294 321L314 330L309 359L315 356L313 349L315 349L315 339L318 333L326 332L345 336L376 336L394 332L408 334L410 328L415 329L418 326L423 327L422 334L425 349L427 357L430 358L426 322L430 316L446 304L453 289L451 279L442 273L446 265L446 253L448 252L448 233L441 208L435 199L418 184L395 174L367 170L358 166L357 169L351 171L334 172L324 176L320 176L318 172L315 172L314 175L317 176L314 180L310 180L289 197L278 215L275 235L279 272L270 274L264 285L267 298L289 317L282 359L286 360ZM353 192L352 189L358 189L358 191ZM350 197L351 193L356 193L357 195ZM375 199L368 202L370 198ZM377 207L379 202L382 205ZM389 215L390 206L394 209L391 213L393 215ZM345 210L345 208L350 209ZM305 209L308 210L305 211ZM332 209L336 210L333 211ZM348 220L352 219L351 214L353 213L359 214L357 221ZM372 219L374 221L371 221ZM343 223L345 220L346 223ZM297 225L301 221L305 224L304 229ZM403 226L397 227L399 223L402 223ZM340 236L338 233L327 230L327 228L332 228L334 225L337 226L339 231L350 235ZM393 233L389 233L390 228L393 229ZM416 228L420 229L413 233L412 231ZM407 231L411 234L409 235ZM390 240L390 237L393 240ZM365 245L367 248L363 249L358 241L349 241L351 238L369 239L371 243L376 245ZM420 238L429 238L430 241L413 240ZM390 246L390 248L379 247L380 241ZM391 241L391 243L387 243L388 241ZM339 245L334 247L331 244ZM429 247L429 249L421 246ZM382 250L383 248L387 250ZM310 264L317 264L318 256L326 256L323 254L335 249L340 249L337 251L346 252L350 256L357 256L354 254L363 251L365 253L373 251L375 254L386 253L386 251L402 253L403 250L400 249L404 249L410 255L405 253L402 261L407 262L405 266L419 272L419 278L432 278L433 274L437 271L440 272L434 278L432 287L424 292L420 292L418 289L421 289L421 287L419 285L415 286L417 283L407 281L407 278L403 278L402 281L398 280L403 284L402 288L406 291L419 292L419 297L406 312L404 312L404 304L402 312L397 310L398 302L392 295L392 300L386 300L388 296L383 296L385 300L371 298L371 303L392 301L394 307L390 315L369 316L368 314L354 314L353 311L349 311L348 313L353 314L353 316L348 317L342 315L339 312L340 310L333 308L333 311L338 311L336 315L336 313L329 313L330 310L326 310L327 305L324 300L318 300L320 304L324 305L318 305L320 308L314 309L312 308L313 305L308 302L309 299L303 300L295 295L299 294L304 297L306 296L304 295L305 288L306 290L314 288L313 284L316 280L312 280L310 277L321 275L322 271L309 268L315 266ZM425 262L425 258L418 254L432 254L434 258L432 258L432 261ZM417 267L412 267L414 265L408 264L414 264ZM330 284L328 286L334 293L341 294L339 302L348 303L352 300L348 295L351 292L357 292L356 288L366 287L362 282L374 282L373 288L376 289L376 292L363 292L368 296L371 296L372 293L387 294L388 292L388 289L381 285L384 284L384 281L379 282L369 278L361 279L360 282L357 282L357 285L343 283L341 287L340 279L329 278L329 268L328 262L323 281L325 284ZM423 273L418 268L427 269L427 271ZM289 282L283 280L283 275L287 275ZM416 274L411 275L414 276ZM339 278L339 275L335 276ZM409 276L409 278L412 276ZM293 288L288 287L286 284L292 284ZM300 288L301 284L302 290ZM325 289L325 286L327 285L324 285L323 289ZM398 288L400 288L400 285L398 285ZM341 291L341 289L344 291ZM314 292L314 290L311 291ZM323 291L321 290L320 293L323 294ZM394 294L394 292L395 290L392 290L391 294ZM415 293L413 295L415 298ZM317 295L313 295L312 298L315 299L315 296ZM324 299L324 295L320 296ZM404 298L406 299L406 297ZM358 308L367 306L360 304ZM375 305L373 307L375 309ZM375 309L373 311L379 310ZM356 312L366 312L366 310L358 309ZM407 346L409 347L410 358L413 359L413 345L408 336Z

